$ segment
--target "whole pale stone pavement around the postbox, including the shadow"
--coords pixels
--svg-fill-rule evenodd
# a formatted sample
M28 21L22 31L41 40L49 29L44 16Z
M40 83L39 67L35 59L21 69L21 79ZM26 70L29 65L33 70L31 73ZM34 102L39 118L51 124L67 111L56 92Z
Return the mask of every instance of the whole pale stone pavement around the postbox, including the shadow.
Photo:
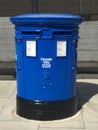
M77 80L78 112L61 120L35 121L16 114L16 80L0 80L0 130L98 130L98 79Z

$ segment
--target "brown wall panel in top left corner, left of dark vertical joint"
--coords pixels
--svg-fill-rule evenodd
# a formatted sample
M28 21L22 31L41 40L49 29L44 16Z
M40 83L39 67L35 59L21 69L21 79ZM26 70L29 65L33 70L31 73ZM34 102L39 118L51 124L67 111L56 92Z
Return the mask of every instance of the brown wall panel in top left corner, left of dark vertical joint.
M0 16L12 16L31 12L31 0L0 0Z

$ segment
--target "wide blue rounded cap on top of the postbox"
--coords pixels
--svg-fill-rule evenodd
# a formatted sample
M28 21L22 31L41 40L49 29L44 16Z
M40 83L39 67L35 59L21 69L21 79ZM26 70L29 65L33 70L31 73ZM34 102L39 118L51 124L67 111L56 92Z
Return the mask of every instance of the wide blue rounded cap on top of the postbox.
M23 14L11 17L11 22L14 24L23 24L23 23L81 23L84 21L83 17L79 15L71 15L71 14Z

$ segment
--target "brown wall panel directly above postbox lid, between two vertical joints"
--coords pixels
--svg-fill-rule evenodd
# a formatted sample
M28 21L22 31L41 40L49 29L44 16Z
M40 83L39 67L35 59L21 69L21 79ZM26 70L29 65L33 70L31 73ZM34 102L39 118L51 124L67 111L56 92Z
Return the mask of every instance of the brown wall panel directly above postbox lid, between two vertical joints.
M79 13L79 0L39 0L39 12Z

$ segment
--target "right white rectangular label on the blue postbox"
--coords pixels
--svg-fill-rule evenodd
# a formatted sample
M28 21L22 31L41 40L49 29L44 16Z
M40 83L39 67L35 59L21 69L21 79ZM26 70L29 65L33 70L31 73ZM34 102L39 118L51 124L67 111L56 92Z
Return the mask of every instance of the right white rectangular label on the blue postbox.
M57 57L66 56L66 41L57 41Z

